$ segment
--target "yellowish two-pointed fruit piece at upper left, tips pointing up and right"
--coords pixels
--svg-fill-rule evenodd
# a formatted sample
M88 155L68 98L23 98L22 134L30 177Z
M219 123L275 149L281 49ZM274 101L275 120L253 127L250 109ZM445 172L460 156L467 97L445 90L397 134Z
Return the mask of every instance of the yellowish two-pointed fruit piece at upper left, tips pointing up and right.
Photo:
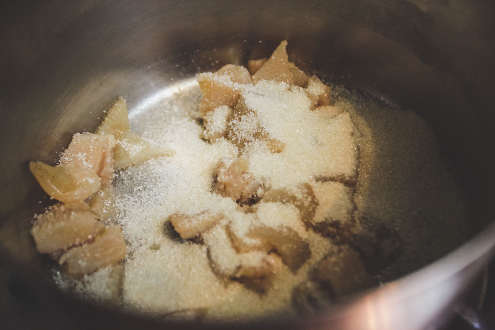
M99 126L97 134L113 134L116 145L113 153L114 169L120 170L129 166L138 165L151 158L171 155L173 150L161 148L148 140L143 139L131 131L127 104L119 97Z

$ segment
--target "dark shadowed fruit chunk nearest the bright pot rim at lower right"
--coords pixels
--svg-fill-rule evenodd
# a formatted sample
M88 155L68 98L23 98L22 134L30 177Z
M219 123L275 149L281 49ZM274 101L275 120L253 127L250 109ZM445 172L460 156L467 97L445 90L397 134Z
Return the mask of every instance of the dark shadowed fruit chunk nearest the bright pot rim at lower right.
M336 296L343 296L375 285L375 281L364 268L359 254L342 248L329 255L318 265L316 279L320 283L329 284Z

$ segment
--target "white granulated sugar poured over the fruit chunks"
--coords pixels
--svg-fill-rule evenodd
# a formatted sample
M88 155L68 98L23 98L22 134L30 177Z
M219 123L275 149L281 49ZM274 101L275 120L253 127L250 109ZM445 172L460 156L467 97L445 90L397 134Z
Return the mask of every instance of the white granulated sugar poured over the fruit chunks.
M114 220L128 245L125 262L82 281L57 281L88 297L116 301L128 311L159 319L184 310L210 322L295 315L294 288L308 282L315 265L339 249L329 239L333 236L316 232L315 224L325 222L323 211L303 225L297 220L297 205L261 200L246 211L232 198L212 193L219 160L235 159L240 150L223 137L214 143L203 139L204 129L195 118L198 85L184 85L189 87L130 111L136 133L175 154L116 176ZM242 148L253 180L265 189L285 189L296 200L307 197L300 195L300 185L309 183L316 196L325 191L335 196L321 197L322 207L335 214L332 221L363 230L363 219L373 219L396 230L402 253L375 274L381 281L417 269L459 245L466 233L466 207L430 127L412 112L333 89L341 96L322 117L309 109L302 88L266 81L245 87L239 102L247 110L236 119L235 135L252 139ZM211 116L225 125L227 110ZM264 140L253 139L252 132ZM284 145L281 151L267 147L273 139ZM176 213L210 211L225 214L229 221L218 222L202 241L181 239L168 221ZM258 211L259 218L253 218L250 212ZM278 223L273 212L295 220ZM257 237L245 235L252 226L286 226L284 230L299 235L309 251L296 269L278 256L268 258L276 276L259 291L231 278L243 265L258 267L267 255L275 255L267 254ZM236 242L236 237L246 241ZM254 246L255 252L241 251L242 244Z

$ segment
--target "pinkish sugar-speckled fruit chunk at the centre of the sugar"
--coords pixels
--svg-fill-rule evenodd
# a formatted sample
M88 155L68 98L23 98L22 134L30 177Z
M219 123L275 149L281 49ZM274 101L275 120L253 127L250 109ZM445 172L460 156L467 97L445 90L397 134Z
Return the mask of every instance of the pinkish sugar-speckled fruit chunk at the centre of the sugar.
M248 200L253 195L261 193L261 184L247 173L249 160L246 157L239 157L229 166L221 164L218 169L218 191L224 197L230 197L237 201Z

